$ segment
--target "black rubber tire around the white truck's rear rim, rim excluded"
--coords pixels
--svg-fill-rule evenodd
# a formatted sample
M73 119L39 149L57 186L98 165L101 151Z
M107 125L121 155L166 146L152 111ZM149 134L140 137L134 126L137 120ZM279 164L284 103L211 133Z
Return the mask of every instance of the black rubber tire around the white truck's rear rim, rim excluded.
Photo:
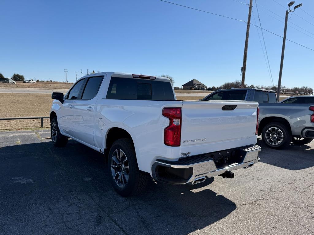
M118 183L114 179L114 173L112 173L111 168L112 157L114 157L113 154L117 149L121 149L124 152L128 161L129 174L127 183L124 186L118 186ZM108 154L108 171L112 187L118 194L124 197L136 195L143 192L149 179L148 175L143 174L143 172L138 169L134 145L130 138L117 139L111 145Z

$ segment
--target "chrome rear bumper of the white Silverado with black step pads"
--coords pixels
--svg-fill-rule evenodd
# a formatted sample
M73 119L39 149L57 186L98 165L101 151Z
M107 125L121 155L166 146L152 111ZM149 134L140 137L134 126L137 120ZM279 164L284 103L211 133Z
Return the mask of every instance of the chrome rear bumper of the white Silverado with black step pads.
M258 145L236 150L239 153L238 159L243 160L218 169L212 158L213 154L179 159L176 162L157 159L152 165L152 175L155 180L165 183L194 184L224 174L226 171L251 167L259 161L258 154L261 147ZM229 154L229 151L226 150L225 152Z

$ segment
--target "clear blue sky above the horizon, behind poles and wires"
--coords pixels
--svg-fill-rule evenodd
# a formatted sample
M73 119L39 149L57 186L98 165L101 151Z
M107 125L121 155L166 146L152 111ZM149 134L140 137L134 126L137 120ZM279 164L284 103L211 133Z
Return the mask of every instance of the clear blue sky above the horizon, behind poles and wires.
M234 0L169 1L247 20L248 7ZM276 1L284 6L290 2ZM301 8L314 17L313 1L301 2ZM257 0L257 6L262 27L283 35L284 19L265 8L282 17L285 9L273 0ZM75 81L75 71L83 69L85 75L89 69L168 74L176 86L191 79L207 86L241 80L246 33L243 22L158 0L2 0L0 9L0 72L5 77L16 72L26 79L64 81L63 70L68 69L68 81ZM255 0L253 13L259 24ZM292 13L288 25L314 38L314 18L300 8L295 13L311 24ZM263 33L277 84L282 38ZM287 39L314 49L313 38L288 26ZM282 85L314 88L313 67L314 51L286 42ZM271 85L257 29L252 25L246 83Z

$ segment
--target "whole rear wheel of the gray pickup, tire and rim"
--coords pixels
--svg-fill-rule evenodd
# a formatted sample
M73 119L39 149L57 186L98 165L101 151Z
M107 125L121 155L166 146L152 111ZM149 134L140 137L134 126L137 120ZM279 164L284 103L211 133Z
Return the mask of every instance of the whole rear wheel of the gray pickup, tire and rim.
M273 122L263 128L262 139L268 147L282 149L289 146L292 135L286 124Z

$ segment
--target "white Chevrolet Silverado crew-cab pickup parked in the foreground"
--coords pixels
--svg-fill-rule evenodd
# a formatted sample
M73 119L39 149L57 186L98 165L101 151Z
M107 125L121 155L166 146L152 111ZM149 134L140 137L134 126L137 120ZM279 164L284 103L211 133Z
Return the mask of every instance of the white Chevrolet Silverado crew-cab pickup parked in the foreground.
M51 98L52 143L72 138L105 154L122 196L149 176L197 184L259 160L257 102L179 101L168 78L116 72L84 76Z

